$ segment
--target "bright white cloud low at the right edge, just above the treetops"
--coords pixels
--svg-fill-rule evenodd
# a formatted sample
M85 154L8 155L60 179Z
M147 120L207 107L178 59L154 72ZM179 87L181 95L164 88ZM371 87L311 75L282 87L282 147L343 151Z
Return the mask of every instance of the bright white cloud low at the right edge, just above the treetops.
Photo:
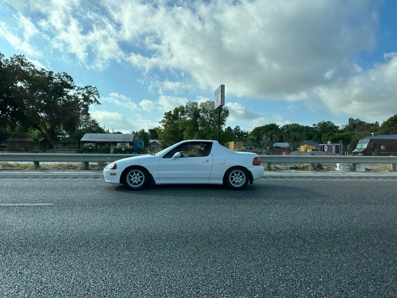
M360 71L347 81L319 87L316 94L334 114L387 119L397 110L397 52L384 58L384 63Z

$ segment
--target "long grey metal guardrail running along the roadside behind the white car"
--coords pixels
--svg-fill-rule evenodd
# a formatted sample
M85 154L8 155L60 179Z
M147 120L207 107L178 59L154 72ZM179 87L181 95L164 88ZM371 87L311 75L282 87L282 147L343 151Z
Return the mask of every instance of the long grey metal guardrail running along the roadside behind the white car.
M0 161L108 162L143 154L0 153ZM397 164L397 156L260 155L261 163L382 163Z

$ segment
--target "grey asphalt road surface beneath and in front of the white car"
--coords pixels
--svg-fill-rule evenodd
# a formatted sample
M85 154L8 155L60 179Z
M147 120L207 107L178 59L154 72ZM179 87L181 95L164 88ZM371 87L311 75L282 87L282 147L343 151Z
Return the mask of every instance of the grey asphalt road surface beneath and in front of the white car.
M0 297L396 297L395 180L0 180Z

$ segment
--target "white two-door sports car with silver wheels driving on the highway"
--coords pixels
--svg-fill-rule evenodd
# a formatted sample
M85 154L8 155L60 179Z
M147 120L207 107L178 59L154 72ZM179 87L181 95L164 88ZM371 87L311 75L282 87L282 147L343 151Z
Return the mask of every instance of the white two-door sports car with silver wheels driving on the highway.
M141 190L151 184L226 184L241 190L263 176L256 153L235 152L217 141L188 140L156 154L119 159L103 169L106 182Z

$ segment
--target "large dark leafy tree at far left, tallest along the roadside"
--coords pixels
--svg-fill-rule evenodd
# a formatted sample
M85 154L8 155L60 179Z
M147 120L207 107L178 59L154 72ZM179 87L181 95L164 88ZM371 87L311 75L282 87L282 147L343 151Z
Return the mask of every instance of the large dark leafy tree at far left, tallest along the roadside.
M73 132L82 115L89 114L91 104L100 104L95 87L79 87L66 73L37 70L25 56L14 55L2 62L11 97L1 103L1 116L35 128L53 149L56 133Z

